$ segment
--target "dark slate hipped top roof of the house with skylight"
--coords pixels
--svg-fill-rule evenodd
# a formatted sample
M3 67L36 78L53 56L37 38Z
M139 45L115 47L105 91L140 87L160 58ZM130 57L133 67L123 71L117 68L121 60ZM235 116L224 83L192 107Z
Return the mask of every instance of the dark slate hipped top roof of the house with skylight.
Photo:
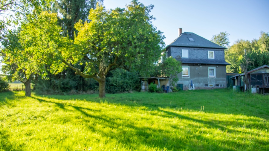
M194 41L190 41L189 38L192 38ZM196 35L195 33L184 32L177 39L175 39L168 46L181 46L181 47L201 47L201 48L219 48L227 49L221 47L201 36Z

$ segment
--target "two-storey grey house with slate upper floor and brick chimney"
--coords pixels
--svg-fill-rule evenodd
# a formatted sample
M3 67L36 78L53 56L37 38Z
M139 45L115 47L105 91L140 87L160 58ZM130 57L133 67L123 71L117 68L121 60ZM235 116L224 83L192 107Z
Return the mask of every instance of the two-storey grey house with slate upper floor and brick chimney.
M213 89L226 87L224 47L195 33L178 29L178 38L166 48L166 56L182 62L178 85L187 89Z

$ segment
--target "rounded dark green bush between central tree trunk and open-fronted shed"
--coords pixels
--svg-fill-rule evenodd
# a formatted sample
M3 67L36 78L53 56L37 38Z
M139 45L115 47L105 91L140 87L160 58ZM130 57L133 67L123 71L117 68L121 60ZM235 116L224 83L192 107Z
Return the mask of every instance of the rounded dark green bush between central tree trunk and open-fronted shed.
M117 68L108 73L106 78L107 93L124 93L130 91L140 91L139 74Z

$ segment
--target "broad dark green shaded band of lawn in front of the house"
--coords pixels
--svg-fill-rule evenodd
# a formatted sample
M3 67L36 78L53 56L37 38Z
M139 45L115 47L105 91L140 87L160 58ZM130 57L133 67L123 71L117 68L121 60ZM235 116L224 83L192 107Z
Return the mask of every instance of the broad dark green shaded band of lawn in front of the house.
M205 94L203 94L205 93ZM98 98L97 95L71 95L71 96L48 96L60 100L87 100L100 103L100 101L126 106L145 106L148 109L158 110L161 108L199 111L204 106L207 113L223 113L234 115L254 116L269 120L269 97L259 95L245 95L240 93L226 92L218 96L222 91L206 94L207 91L177 92L169 94L158 93L130 93L108 94L106 98ZM187 94L187 95L185 95ZM189 97L191 96L191 97ZM262 98L263 100L257 99ZM268 99L267 99L268 98ZM266 108L268 106L268 108Z

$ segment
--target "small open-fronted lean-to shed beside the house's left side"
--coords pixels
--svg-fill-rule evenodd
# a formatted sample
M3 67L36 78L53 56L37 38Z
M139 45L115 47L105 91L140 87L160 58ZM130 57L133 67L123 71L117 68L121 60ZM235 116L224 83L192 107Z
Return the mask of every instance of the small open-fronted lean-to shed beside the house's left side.
M162 88L163 86L168 87L170 89L170 77L140 77L141 81L141 91L148 91L148 85L150 83L157 84L157 88Z

